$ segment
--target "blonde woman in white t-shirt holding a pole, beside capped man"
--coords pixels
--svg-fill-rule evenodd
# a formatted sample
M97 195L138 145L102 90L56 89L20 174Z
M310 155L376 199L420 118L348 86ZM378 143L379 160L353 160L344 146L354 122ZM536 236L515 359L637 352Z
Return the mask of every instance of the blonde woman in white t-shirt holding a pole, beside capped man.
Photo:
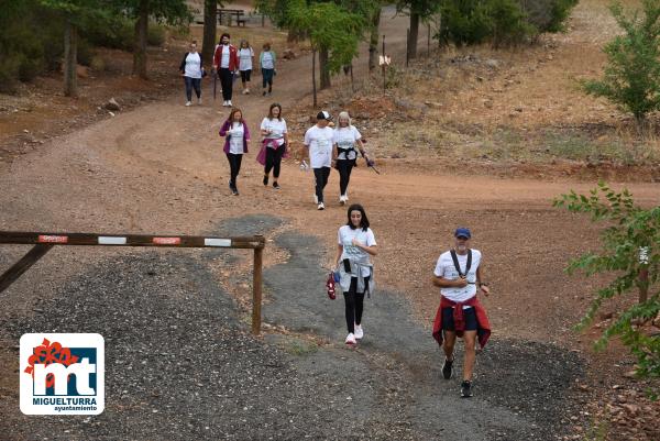
M356 150L360 150L360 153L365 161L369 161L369 157L366 153L364 153L362 135L358 129L351 124L349 112L341 112L337 120L338 124L334 129L332 143L334 145L334 164L339 172L339 203L343 206L349 200L349 180L351 179L351 170L358 161Z

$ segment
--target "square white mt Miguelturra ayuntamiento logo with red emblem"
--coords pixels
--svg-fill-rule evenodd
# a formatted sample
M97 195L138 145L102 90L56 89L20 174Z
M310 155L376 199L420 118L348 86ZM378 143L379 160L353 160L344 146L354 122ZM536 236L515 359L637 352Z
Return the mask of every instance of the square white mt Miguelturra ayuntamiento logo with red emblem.
M105 341L100 334L21 337L21 411L99 415L105 408Z

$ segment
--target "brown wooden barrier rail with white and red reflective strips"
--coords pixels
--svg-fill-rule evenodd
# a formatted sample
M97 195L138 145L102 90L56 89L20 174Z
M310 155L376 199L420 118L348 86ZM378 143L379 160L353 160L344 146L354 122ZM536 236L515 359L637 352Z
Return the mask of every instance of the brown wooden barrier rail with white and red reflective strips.
M261 332L261 304L263 285L263 250L265 240L262 235L216 238L198 235L172 234L88 234L88 233L42 233L24 231L0 231L0 244L34 245L28 254L0 276L0 293L14 283L23 273L42 258L55 245L73 246L157 246L157 247L195 247L195 249L252 249L254 250L254 267L252 280L252 333Z

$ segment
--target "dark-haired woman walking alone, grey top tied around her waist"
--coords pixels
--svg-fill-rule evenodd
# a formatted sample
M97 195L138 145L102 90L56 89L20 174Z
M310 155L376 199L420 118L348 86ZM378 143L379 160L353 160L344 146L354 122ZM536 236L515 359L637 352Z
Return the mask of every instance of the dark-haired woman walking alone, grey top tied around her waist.
M369 228L369 219L361 205L354 203L349 207L348 222L339 229L337 241L336 261L344 295L349 331L345 343L354 345L364 337L364 294L373 291L374 271L371 256L376 255L376 239Z

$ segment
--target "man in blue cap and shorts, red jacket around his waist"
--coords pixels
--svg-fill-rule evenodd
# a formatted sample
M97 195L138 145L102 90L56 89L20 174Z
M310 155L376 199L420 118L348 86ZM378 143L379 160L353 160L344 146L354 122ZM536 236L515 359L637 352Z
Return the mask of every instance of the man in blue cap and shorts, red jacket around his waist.
M476 341L483 348L491 334L491 326L484 308L476 298L477 287L488 296L488 286L483 282L482 253L469 246L472 233L466 228L454 232L454 249L440 255L433 271L433 285L440 287L441 301L436 321L433 338L444 351L442 375L451 378L457 337L465 342L463 382L461 396L472 396L472 372L476 356Z

